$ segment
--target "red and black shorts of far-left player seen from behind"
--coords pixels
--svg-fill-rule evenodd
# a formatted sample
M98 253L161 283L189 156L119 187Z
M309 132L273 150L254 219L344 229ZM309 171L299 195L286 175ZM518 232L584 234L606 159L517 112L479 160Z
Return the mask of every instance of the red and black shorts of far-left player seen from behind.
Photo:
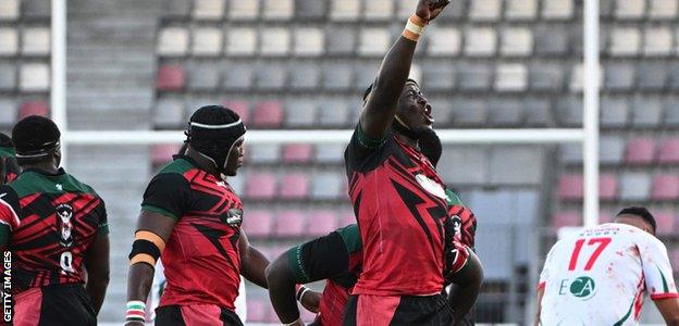
M97 325L83 284L32 288L14 296L14 326Z

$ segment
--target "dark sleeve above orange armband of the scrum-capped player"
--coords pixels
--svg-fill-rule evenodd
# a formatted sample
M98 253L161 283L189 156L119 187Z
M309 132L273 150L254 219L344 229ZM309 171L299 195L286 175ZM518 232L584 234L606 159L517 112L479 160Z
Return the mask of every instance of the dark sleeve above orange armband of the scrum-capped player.
M141 210L159 213L175 221L190 206L190 186L176 173L161 173L153 177L144 192Z

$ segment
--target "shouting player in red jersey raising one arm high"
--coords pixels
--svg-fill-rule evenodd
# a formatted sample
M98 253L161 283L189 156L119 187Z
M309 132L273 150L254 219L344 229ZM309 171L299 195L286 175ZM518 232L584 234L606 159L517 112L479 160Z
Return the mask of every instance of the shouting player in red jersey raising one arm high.
M386 53L345 151L362 268L345 325L449 325L441 293L448 227L444 184L418 149L431 105L407 80L424 26L449 1L420 0ZM449 261L448 261L449 262Z

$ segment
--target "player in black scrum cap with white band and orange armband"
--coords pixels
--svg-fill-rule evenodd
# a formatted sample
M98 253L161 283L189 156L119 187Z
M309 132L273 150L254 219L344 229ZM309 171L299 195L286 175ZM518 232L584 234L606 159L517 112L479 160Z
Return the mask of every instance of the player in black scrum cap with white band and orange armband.
M234 312L239 274L267 287L269 261L249 244L243 203L225 181L243 164L243 121L230 109L202 106L186 134L186 152L144 193L129 253L126 325L144 324L159 256L166 286L156 325L242 325Z

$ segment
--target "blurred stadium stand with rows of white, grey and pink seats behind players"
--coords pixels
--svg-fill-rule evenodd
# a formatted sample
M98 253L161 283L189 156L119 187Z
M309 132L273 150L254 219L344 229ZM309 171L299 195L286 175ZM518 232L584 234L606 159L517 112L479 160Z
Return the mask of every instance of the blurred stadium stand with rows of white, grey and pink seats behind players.
M221 103L249 130L351 129L363 89L416 3L70 0L60 125L177 130L178 140L195 109ZM598 216L606 222L625 205L649 205L677 268L678 1L598 5ZM53 61L53 20L48 0L0 0L0 130L29 114L55 113L52 82L63 87L64 78L54 75L61 64ZM453 0L427 28L412 75L436 129L581 128L582 58L581 0ZM70 173L109 209L112 277L101 322L123 318L141 193L181 145L144 142L66 148ZM246 233L269 259L354 221L345 146L247 146L246 165L229 181L244 199ZM439 172L479 222L486 275L479 322L532 321L538 274L556 230L582 224L582 158L579 142L444 145ZM247 302L248 322L277 322L262 289L248 284ZM642 321L659 323L646 305Z

